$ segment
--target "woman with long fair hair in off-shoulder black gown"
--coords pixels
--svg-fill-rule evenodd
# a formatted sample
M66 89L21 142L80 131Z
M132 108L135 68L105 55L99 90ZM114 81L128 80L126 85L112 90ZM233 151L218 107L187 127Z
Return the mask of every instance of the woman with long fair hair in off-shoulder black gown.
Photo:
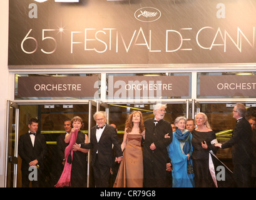
M216 135L212 131L208 118L204 113L195 116L197 128L192 131L193 169L195 173L195 187L215 187L209 171L209 151L216 153L213 144L217 143Z

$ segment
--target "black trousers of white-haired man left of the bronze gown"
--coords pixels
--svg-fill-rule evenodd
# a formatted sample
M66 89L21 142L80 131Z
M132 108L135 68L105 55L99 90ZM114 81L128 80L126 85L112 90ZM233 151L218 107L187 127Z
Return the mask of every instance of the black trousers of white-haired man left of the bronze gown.
M93 165L93 175L95 176L96 187L110 187L110 167L100 164L98 155L96 155Z

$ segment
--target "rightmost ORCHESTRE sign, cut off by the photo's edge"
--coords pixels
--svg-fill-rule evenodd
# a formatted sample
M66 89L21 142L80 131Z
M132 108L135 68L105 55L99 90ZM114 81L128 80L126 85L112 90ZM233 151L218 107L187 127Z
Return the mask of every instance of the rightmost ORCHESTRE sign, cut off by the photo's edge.
M201 75L199 96L255 98L255 75Z

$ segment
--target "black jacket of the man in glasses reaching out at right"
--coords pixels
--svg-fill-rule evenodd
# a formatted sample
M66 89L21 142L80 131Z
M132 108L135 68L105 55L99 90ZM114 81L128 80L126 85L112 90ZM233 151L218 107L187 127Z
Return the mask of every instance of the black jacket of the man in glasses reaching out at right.
M252 164L252 128L245 118L238 120L232 138L222 144L222 149L231 147L233 164Z

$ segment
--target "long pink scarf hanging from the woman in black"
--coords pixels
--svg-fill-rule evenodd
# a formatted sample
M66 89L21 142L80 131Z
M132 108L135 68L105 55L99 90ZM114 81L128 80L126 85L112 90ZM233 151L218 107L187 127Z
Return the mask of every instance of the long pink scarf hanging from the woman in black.
M70 186L70 179L71 179L71 168L72 168L72 163L69 164L68 161L68 156L69 154L71 154L71 158L73 160L73 151L72 147L74 145L74 143L76 143L76 138L78 136L78 131L76 129L76 131L74 131L74 133L71 135L71 139L69 141L68 146L65 149L65 165L64 165L64 169L63 172L61 174L61 178L59 178L58 183L55 185L55 187L69 187Z

